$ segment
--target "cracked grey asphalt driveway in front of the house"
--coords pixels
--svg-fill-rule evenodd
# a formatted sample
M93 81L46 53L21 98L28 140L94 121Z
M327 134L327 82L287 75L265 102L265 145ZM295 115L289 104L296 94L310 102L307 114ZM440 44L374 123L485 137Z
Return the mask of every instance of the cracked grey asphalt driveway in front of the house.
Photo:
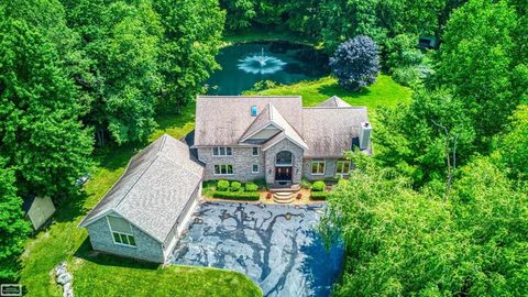
M343 248L315 231L324 206L204 202L172 263L241 272L264 296L329 296Z

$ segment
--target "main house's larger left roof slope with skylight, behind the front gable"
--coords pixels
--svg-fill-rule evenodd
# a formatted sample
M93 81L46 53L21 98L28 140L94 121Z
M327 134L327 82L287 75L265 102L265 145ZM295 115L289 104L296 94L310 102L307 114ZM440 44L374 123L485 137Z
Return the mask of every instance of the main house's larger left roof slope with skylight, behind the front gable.
M195 145L238 144L255 121L251 117L251 107L256 106L261 113L270 103L295 131L302 130L302 102L299 96L200 96L196 102Z

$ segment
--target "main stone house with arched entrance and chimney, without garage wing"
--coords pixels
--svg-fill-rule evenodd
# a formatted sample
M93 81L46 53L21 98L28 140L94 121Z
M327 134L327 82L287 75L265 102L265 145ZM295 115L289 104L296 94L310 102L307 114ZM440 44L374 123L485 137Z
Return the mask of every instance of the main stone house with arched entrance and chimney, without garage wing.
M346 175L343 153L371 154L371 133L366 108L338 97L307 108L299 96L201 96L191 147L206 180L295 185Z

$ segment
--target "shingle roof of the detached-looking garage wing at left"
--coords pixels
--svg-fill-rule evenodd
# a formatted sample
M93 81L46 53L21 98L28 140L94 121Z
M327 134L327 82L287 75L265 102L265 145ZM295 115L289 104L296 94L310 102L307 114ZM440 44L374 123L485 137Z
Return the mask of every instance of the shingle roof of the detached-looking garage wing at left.
M164 242L202 174L204 167L191 161L189 147L165 134L132 157L125 173L79 227L114 211Z

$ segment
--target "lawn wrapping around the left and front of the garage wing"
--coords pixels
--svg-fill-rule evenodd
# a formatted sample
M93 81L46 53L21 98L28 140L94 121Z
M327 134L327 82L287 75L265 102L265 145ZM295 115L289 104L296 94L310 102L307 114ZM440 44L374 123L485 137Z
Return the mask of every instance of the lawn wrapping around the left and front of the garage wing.
M180 116L158 117L160 128L150 141L163 133L182 138L194 129L195 107ZM258 296L257 288L245 276L227 271L200 267L166 267L96 255L89 248L87 231L77 224L86 212L111 188L127 164L146 143L107 147L95 152L96 168L85 185L85 193L62 205L54 222L36 238L28 241L21 257L21 284L26 296L61 296L51 272L66 260L74 272L74 289L78 296ZM153 284L156 287L153 293ZM179 294L178 294L179 293Z

